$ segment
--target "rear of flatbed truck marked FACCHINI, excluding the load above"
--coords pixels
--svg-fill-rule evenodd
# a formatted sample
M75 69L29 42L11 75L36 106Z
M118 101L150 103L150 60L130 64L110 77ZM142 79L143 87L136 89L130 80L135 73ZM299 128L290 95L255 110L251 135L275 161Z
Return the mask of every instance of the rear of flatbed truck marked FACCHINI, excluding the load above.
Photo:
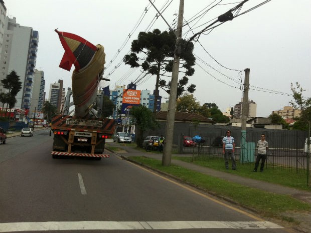
M113 119L56 115L51 122L53 158L61 156L109 158L104 154L105 141L115 130Z

